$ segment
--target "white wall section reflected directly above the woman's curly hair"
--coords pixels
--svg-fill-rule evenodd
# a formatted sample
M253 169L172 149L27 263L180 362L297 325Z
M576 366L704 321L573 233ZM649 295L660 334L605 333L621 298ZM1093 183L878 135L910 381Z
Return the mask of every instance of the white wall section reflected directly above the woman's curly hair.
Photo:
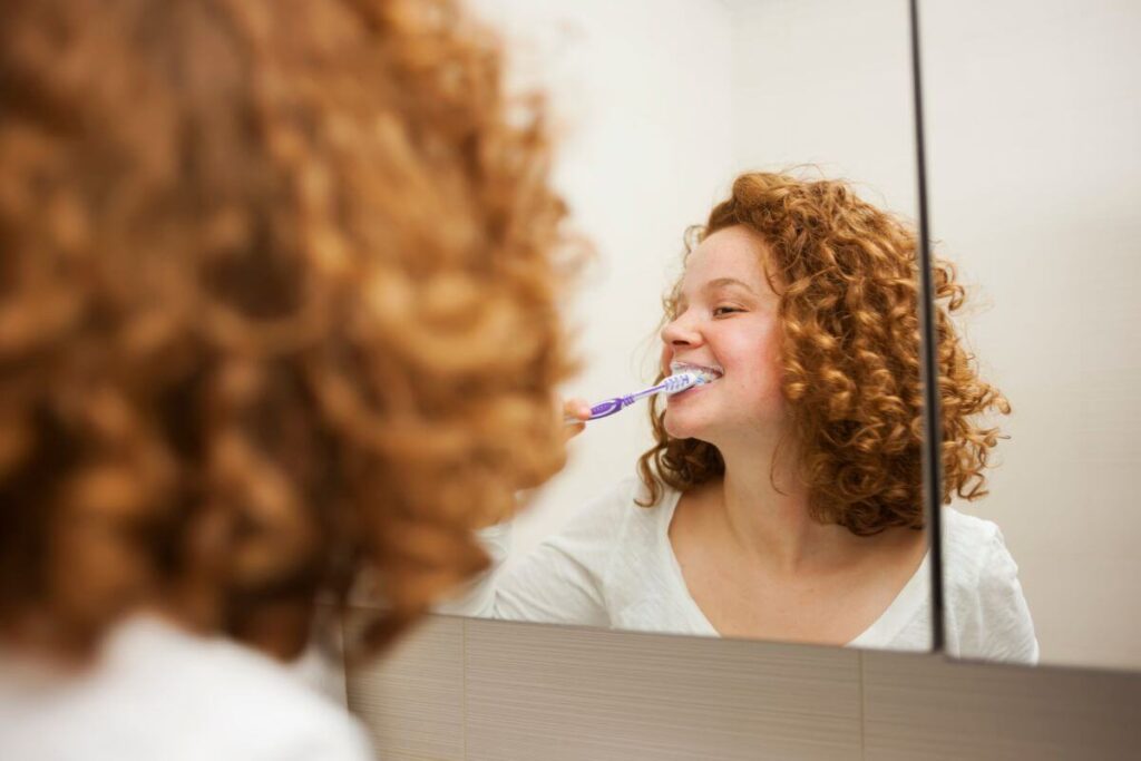
M734 163L811 164L919 216L907 3L734 0Z

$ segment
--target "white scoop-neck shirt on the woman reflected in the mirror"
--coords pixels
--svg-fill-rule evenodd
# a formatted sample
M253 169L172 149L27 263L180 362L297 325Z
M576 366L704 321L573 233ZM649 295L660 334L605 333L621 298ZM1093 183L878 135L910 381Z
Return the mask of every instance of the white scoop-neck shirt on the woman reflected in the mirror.
M652 508L629 478L585 505L567 526L505 573L493 568L459 602L443 608L494 618L717 637L689 594L669 528L680 492ZM1018 566L989 520L942 511L946 649L952 655L1035 663L1038 645L1018 583ZM510 524L482 532L499 566ZM849 647L931 649L930 560Z

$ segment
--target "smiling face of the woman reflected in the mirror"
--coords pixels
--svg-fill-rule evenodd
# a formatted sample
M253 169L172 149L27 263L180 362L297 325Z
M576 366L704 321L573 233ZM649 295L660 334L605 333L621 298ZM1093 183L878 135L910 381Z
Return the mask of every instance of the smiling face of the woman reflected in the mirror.
M768 257L764 241L741 226L713 233L689 256L673 318L662 330L662 367L705 370L715 380L669 397L670 436L722 447L771 438L786 420L779 298L764 275Z

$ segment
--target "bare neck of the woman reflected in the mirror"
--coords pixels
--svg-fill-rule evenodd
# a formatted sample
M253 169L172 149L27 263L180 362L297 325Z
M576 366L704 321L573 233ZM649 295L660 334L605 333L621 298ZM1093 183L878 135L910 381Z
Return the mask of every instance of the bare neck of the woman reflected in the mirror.
M746 557L790 574L834 569L845 561L855 537L809 516L808 488L791 464L794 447L786 443L778 452L771 439L718 448L725 460L721 512Z

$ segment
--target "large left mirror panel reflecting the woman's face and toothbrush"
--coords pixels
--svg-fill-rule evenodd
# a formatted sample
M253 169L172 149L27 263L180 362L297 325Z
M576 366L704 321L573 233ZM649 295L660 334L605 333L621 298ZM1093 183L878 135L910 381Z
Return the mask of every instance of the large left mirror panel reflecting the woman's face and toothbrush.
M593 403L652 386L663 346L667 362L704 369L713 382L659 407L671 438L705 440L670 450L680 480L696 471L678 458L705 459L701 486L680 496L662 488L659 502L636 505L647 497L639 456L655 442L647 403L592 421L528 509L486 532L494 572L445 609L930 649L919 442L909 428L920 398L914 240L901 242L917 194L906 5L482 0L474 8L503 31L520 87L550 92L561 137L556 177L597 254L568 305L583 372L567 396ZM788 245L783 259L766 259L763 235L759 242L729 225L690 238L695 250L683 267L686 229L705 224L734 178L750 171L785 172L756 180L768 183L753 186L759 194L792 193L777 187L782 181L802 194L810 209L801 227L786 209L774 229L793 237L801 229L814 241L815 264L806 264L809 254L791 264ZM824 183L840 179L848 184ZM845 214L847 227L822 221L820 209ZM828 266L820 264L826 236L818 224L833 234ZM772 265L774 282L762 261ZM808 468L809 456L793 453L787 423L758 421L786 413L775 370L785 289L815 289L830 277L839 278L831 291L799 302L832 294L831 313L800 313L808 333L828 333L816 354L806 348L811 335L800 343L811 354L799 391L810 402L800 404L817 421L817 438L832 437L830 446L847 453L824 456L819 442L811 451L824 484L817 491L831 495L822 515L835 517L822 521L808 517L807 487L792 475ZM675 318L659 335L663 293L679 278ZM747 288L722 283L729 278ZM880 345L867 338L873 333ZM852 343L853 335L863 342ZM853 365L859 351L868 355ZM715 446L702 439L714 434ZM722 455L726 475L709 465L711 451Z

